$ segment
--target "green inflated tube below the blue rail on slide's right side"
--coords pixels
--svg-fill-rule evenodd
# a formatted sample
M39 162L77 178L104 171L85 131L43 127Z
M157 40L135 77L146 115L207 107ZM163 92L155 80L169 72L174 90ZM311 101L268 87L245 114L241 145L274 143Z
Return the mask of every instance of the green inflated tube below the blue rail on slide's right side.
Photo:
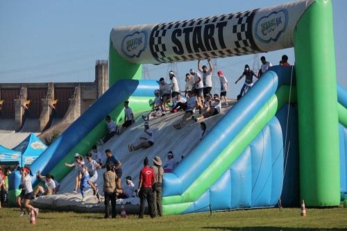
M296 89L291 89L291 102L296 101ZM251 144L252 140L264 128L266 123L275 116L289 99L289 86L282 86L271 99L260 109L247 126L230 142L221 152L219 157L192 183L192 185L180 196L167 196L162 198L163 211L165 214L177 214L185 211L189 205L198 200L237 160L244 149ZM171 207L172 205L172 207ZM178 207L178 205L180 205Z

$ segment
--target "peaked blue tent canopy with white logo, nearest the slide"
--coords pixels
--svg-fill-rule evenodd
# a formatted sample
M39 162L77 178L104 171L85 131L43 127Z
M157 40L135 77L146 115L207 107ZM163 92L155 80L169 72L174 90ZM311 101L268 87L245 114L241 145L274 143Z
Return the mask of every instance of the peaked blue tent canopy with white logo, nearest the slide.
M37 138L33 133L28 135L26 139L15 148L14 151L22 153L22 158L19 160L20 166L30 165L46 150L47 146Z

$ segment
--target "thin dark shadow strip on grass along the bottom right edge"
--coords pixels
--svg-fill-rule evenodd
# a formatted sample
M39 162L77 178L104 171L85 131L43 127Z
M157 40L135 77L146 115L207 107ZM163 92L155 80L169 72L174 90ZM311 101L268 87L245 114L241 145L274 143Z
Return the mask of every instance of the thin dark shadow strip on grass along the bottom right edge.
M326 228L326 229L317 229L317 228L280 228L280 227L203 227L203 229L208 230L232 230L232 231L312 231L312 230L319 230L319 231L341 231L341 230L347 230L345 228Z

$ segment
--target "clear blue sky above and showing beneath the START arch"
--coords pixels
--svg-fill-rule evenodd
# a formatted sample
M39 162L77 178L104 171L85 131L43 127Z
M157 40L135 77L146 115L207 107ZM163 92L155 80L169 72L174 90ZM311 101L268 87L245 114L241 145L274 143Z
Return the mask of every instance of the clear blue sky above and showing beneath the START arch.
M164 3L165 2L165 3ZM154 24L207 17L286 3L286 0L244 1L17 1L0 0L0 83L83 82L94 80L97 59L108 59L113 27ZM338 82L347 88L347 1L332 0ZM293 49L266 53L277 64L283 54L294 62ZM235 96L242 83L233 82L253 55L218 59ZM148 65L149 77L167 77L168 65ZM183 76L196 62L178 64Z

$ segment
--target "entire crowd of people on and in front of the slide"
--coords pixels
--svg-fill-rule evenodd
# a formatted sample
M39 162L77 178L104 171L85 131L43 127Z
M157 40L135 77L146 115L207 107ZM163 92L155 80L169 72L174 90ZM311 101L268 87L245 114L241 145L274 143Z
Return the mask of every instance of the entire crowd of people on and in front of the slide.
M235 84L245 77L245 83L239 94L240 96L243 94L246 87L253 86L253 76L261 78L262 74L272 66L271 62L266 61L264 56L262 56L260 60L262 66L258 74L255 74L248 65L245 65L242 76L236 80ZM221 92L220 94L213 94L212 96L212 64L210 60L208 60L209 67L205 65L201 67L200 63L201 61L198 60L198 71L200 71L201 74L194 71L194 69L190 69L189 73L185 75L186 84L185 90L183 91L183 93L185 93L184 96L181 95L182 92L179 89L178 80L173 71L169 72L170 85L165 83L164 78L160 78L160 88L155 90L155 99L151 102L153 110L149 112L149 114L142 116L145 121L144 136L139 137L139 144L128 145L129 152L153 146L155 130L149 127L149 121L153 117L164 116L167 114L168 110L173 113L178 112L179 110L184 110L185 114L183 115L183 118L174 125L174 128L180 129L184 126L189 117L192 117L194 121L199 121L220 114L223 98L225 105L228 105L226 99L226 94L229 90L228 80L226 79L226 76L223 75L223 71L217 71L221 84ZM280 65L289 66L287 55L282 56ZM168 105L169 102L172 104ZM198 116L194 116L196 109L199 110ZM129 101L124 102L124 123L122 123L120 127L118 127L115 121L111 119L110 115L105 117L105 121L107 123L108 132L103 139L99 140L99 145L105 144L115 135L121 135L121 133L135 121L133 111L129 107ZM200 126L202 130L201 139L203 139L206 131L206 124L201 122ZM96 180L99 177L99 169L105 169L102 176L105 200L105 218L110 216L112 218L116 217L115 207L117 198L132 198L135 196L138 196L140 199L139 218L144 217L145 200L147 200L151 218L162 216L162 179L164 177L164 172L171 172L177 164L176 160L174 160L174 153L172 153L172 151L167 153L167 163L164 164L164 166L162 166L162 160L160 157L155 156L153 158L153 166L149 167L149 159L146 157L144 159L144 167L139 173L139 185L137 188L130 176L126 176L126 186L124 188L121 187L121 161L118 160L115 155L112 155L110 149L105 150L105 155L105 163L102 163L102 155L98 151L98 147L94 145L92 146L90 153L87 153L85 159L82 155L76 153L74 155L73 163L65 163L65 166L74 167L77 170L73 192L77 194L79 188L82 195L82 201L85 201L85 191L87 189L92 189L93 196L96 196L98 203L101 203L101 197L99 195L98 186L96 185ZM181 159L183 159L183 156ZM56 194L60 185L50 174L42 176L40 171L38 171L36 177L44 182L44 186L39 185L35 190L33 190L31 185L31 177L33 177L33 174L31 173L31 170L27 167L23 167L20 169L20 173L22 176L22 183L19 186L19 189L22 189L22 193L17 197L17 204L21 208L21 216L24 214L24 208L33 210L37 216L39 209L30 205L30 200L41 195L49 196L51 194ZM6 191L6 175L8 174L8 171L6 171L6 174L3 174L2 171L0 173L1 191ZM1 200L1 202L3 201Z

